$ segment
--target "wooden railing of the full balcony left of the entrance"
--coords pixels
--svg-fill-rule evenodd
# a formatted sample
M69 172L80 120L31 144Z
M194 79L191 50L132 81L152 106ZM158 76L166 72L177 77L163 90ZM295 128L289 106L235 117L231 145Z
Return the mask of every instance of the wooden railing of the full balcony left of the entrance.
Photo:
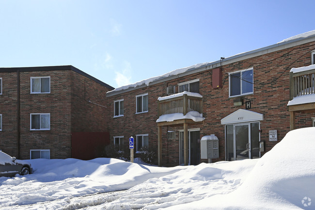
M182 96L158 101L158 116L172 113L183 113L186 115L191 111L203 113L202 97L184 94Z

